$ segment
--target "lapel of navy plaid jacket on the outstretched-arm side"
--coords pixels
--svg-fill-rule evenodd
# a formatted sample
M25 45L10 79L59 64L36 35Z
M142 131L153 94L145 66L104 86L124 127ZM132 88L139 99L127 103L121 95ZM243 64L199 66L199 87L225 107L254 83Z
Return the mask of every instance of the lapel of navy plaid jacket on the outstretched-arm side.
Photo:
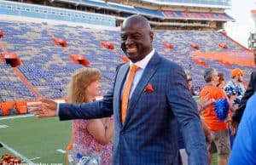
M119 124L119 128L122 127L122 123L121 123L121 114L120 114L120 110L121 110L121 94L122 94L122 88L123 88L123 85L125 83L125 77L127 75L129 71L129 63L128 64L125 64L124 66L121 66L121 68L119 69L119 72L118 72L118 76L117 76L117 79L116 79L116 91L117 91L117 109L116 109L116 112L118 114L118 121L115 121Z

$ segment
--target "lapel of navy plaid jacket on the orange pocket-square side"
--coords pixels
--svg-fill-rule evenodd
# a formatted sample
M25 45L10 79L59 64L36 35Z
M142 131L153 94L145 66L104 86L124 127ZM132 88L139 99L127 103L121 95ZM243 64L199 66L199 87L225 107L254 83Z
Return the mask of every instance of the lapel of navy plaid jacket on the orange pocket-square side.
M133 114L135 105L137 105L137 101L141 94L143 94L144 88L149 83L151 77L153 77L154 72L157 70L160 64L160 56L158 54L154 54L154 56L149 60L148 65L143 71L143 76L141 77L139 83L137 83L137 87L133 91L131 95L131 100L129 101L128 109L127 109L127 116L125 118L125 123L129 121L131 115ZM124 125L125 125L124 123Z

